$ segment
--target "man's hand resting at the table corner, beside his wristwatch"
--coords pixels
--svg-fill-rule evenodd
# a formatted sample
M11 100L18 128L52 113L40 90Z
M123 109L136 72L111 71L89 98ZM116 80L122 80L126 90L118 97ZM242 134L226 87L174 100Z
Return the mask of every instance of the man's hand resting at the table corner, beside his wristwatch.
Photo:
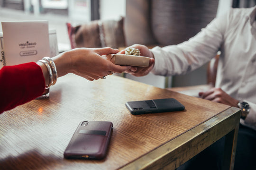
M232 98L229 94L225 93L221 88L211 88L206 92L199 92L199 96L202 99L207 99L212 102L219 102L222 104L227 104L229 106L238 107L238 100Z

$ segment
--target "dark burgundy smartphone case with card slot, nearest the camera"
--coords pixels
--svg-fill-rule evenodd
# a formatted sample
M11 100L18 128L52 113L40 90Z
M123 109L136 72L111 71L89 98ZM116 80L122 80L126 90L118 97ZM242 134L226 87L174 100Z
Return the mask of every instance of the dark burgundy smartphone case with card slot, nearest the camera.
M82 121L76 128L66 150L67 159L103 159L112 134L109 121Z

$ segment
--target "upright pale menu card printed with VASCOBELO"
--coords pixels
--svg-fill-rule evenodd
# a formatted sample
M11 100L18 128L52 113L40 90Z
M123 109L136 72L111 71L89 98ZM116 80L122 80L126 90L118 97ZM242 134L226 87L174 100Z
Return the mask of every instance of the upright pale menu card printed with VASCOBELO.
M48 21L1 22L5 65L50 57Z

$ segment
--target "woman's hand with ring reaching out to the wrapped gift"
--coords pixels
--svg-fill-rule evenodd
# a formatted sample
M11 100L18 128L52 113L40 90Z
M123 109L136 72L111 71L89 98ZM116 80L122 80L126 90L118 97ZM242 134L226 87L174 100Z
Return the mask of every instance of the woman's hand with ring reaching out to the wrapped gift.
M77 48L66 51L52 58L55 62L58 76L73 73L88 80L97 80L111 72L122 73L131 66L119 66L103 59L102 55L115 54L118 49L106 48Z

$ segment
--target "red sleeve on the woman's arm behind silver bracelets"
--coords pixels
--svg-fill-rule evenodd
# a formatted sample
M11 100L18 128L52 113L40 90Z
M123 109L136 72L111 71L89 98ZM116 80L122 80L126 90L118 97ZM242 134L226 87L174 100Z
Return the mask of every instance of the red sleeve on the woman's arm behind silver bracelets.
M0 113L29 102L45 91L45 78L35 62L0 69Z

